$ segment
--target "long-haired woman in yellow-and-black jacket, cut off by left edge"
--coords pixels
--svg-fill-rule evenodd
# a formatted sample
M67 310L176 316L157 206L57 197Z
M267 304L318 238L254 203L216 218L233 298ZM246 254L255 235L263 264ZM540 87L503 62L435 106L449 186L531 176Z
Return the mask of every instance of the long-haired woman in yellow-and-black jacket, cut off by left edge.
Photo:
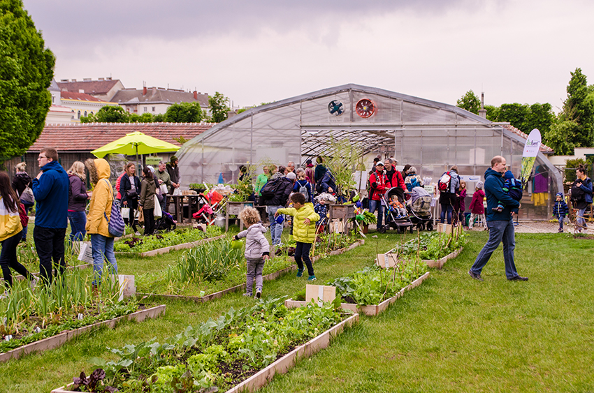
M0 172L0 265L4 276L6 290L13 286L13 276L10 267L31 281L31 287L35 286L37 279L29 273L26 267L17 260L17 245L22 239L22 225L19 216L19 198L17 193L10 186L8 173ZM6 297L8 292L0 295Z

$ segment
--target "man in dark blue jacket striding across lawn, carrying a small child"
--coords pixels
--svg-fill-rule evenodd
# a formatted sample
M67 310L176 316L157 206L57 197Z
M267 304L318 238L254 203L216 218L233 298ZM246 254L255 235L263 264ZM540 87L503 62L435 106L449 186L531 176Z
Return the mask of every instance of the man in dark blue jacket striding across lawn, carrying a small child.
M516 272L514 264L514 249L516 248L516 239L514 234L514 220L512 216L518 213L520 202L512 199L503 191L503 173L505 172L506 162L502 156L495 156L491 160L491 168L485 172L485 193L487 197L487 228L488 241L477 256L475 264L472 265L468 274L479 281L481 279L481 270L491 258L491 254L503 242L503 260L505 261L505 276L509 281L528 281L528 277L521 277ZM503 202L505 208L501 212L493 210L497 207L499 201Z

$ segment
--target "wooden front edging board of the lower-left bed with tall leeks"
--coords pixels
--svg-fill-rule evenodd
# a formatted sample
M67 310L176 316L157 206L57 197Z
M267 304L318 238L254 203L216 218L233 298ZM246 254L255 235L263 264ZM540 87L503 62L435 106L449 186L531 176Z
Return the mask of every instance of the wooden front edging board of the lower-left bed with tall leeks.
M15 359L31 352L44 352L46 350L58 348L62 344L66 343L66 341L73 339L75 336L92 332L103 326L113 329L119 322L122 322L123 320L136 320L136 322L142 322L146 318L156 318L157 316L161 316L161 314L164 312L165 305L154 306L150 309L136 311L135 313L131 313L126 316L120 316L110 320L96 322L92 325L79 327L78 329L68 330L67 332L61 332L60 334L48 337L47 339L35 341L34 343L20 346L19 348L9 350L8 352L0 353L0 362L6 362L10 359Z

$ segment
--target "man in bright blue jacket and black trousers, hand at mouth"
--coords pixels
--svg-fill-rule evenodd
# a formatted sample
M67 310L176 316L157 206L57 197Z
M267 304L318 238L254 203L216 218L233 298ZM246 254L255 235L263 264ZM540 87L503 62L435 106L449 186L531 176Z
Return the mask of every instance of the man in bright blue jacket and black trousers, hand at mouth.
M52 283L52 258L64 273L64 237L68 227L68 175L58 162L56 149L44 148L37 163L41 172L33 179L31 189L37 202L33 239L39 257L39 274L46 284ZM57 274L57 272L56 272Z

